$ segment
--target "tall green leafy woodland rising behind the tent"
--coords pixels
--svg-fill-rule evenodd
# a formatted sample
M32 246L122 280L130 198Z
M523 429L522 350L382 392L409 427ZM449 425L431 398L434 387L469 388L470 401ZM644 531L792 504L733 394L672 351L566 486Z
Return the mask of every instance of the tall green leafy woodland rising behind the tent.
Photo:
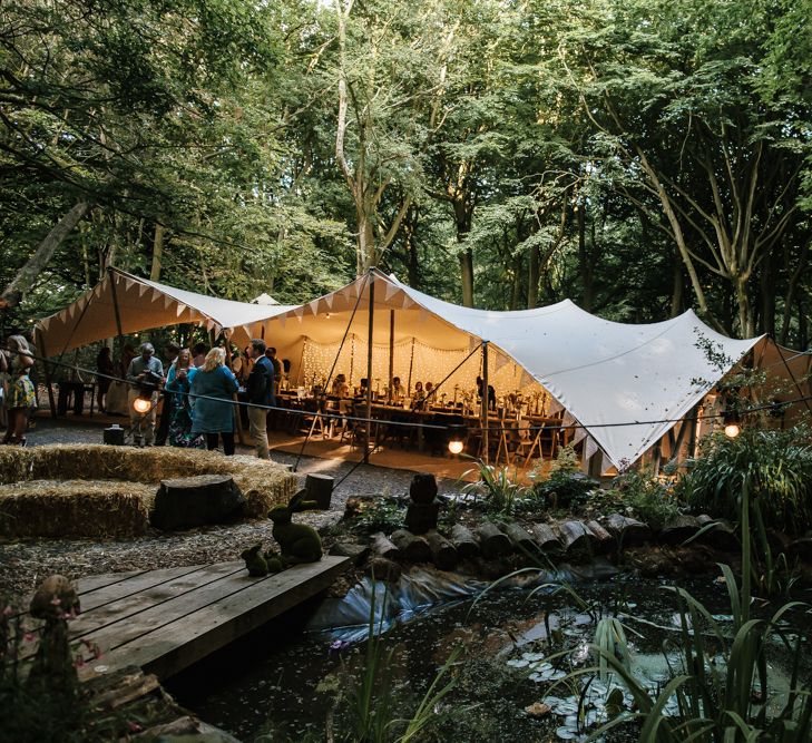
M810 343L812 0L4 0L3 324L378 265Z

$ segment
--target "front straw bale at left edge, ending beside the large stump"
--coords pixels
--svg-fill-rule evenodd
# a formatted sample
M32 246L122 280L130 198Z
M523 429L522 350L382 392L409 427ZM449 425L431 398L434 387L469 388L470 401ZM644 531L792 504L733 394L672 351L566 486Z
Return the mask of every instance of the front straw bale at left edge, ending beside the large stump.
M0 536L139 536L147 530L154 501L154 487L141 482L16 482L0 493Z

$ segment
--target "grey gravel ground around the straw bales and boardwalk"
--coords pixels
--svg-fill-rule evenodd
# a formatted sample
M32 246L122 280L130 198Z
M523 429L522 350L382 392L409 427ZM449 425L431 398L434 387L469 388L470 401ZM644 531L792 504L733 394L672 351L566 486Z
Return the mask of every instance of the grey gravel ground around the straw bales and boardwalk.
M45 443L97 443L101 440L101 424L88 422L67 426L60 421L40 419L37 428L28 432L28 446ZM248 447L237 447L237 453L251 454ZM293 466L296 457L272 452L272 458ZM341 480L353 462L336 459L303 457L297 473L330 475ZM371 465L360 465L334 490L329 511L302 514L296 520L323 530L336 524L349 496L358 493L402 493L409 489L413 472ZM459 489L454 480L440 480L441 492ZM228 526L205 527L176 534L150 529L143 537L127 539L27 539L0 541L0 602L4 598L20 604L47 576L60 573L77 579L89 575L120 570L183 567L236 559L247 546L270 544L270 520L243 521Z

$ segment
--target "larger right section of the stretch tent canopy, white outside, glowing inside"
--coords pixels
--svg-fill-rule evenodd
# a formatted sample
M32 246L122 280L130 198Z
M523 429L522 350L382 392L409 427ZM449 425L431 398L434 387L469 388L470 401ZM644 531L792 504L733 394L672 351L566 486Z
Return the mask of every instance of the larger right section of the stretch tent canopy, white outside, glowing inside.
M501 352L502 363L507 359L521 366L527 377L519 385L529 378L541 384L615 466L636 461L762 340L721 335L692 311L659 323L630 325L596 317L569 300L518 312L461 307L376 270L264 321L265 338L281 350L295 348L303 339L337 349L349 325L355 338L365 339L372 286L373 344L385 346L390 333L393 345L420 339L438 352L459 352L489 341L495 355ZM703 343L712 344L724 361L710 361ZM587 454L595 451L589 439L586 446Z

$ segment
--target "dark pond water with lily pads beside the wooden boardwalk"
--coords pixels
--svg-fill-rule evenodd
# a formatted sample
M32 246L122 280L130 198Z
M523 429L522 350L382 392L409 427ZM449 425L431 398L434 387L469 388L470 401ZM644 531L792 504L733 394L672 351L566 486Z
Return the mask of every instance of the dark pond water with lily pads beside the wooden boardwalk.
M617 676L569 676L594 665L587 645L595 642L601 617L619 617L627 649L620 645L616 649L620 657L628 654L633 674L647 688L656 692L681 669L679 614L665 584L617 575L571 584L576 597L548 584L550 577L560 576L546 575L479 595L485 584L462 578L439 578L437 584L438 575L413 574L405 589L388 596L383 613L379 584L376 624L385 632L380 673L372 684L373 705L382 717L409 718L453 648L461 645L443 678L444 684L453 676L457 685L434 705L436 712L448 713L433 727L436 740L579 740L585 730L607 720L613 704L630 708L627 692L613 694L619 687ZM724 586L707 578L684 587L705 603L721 628L732 632ZM353 693L365 671L366 633L354 620L360 618L363 625L363 617L369 617L371 595L369 585L361 586L341 604L290 614L177 677L169 690L203 720L246 743L323 741L327 729L341 740L352 729ZM314 607L315 615L307 615ZM808 617L799 614L792 620ZM304 630L307 620L311 627L342 626ZM717 648L713 642L708 646L708 666L723 671ZM809 646L805 649L809 657ZM777 638L771 644L770 661L774 688L766 702L775 707L789 687L791 666ZM665 714L674 713L672 702ZM624 727L606 740L636 740L636 731Z

